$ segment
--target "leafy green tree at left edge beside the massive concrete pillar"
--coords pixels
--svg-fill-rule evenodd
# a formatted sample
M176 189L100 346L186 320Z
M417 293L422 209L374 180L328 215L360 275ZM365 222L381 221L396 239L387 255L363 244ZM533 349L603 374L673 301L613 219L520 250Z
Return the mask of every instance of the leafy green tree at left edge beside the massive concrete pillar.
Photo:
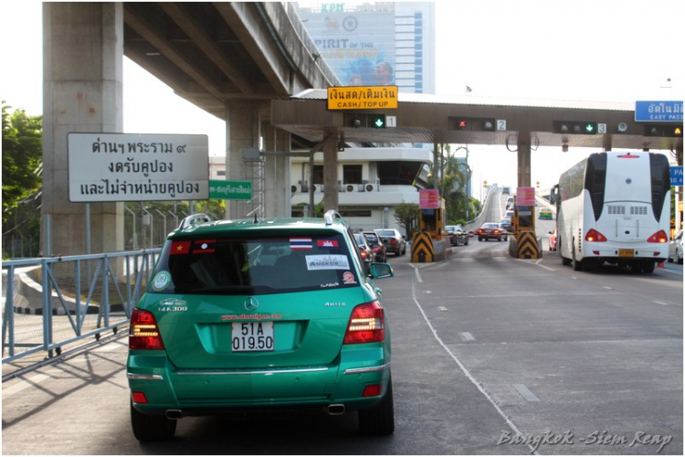
M21 245L21 255L37 255L40 239L42 116L10 113L3 101L3 257ZM28 252L25 252L25 247Z

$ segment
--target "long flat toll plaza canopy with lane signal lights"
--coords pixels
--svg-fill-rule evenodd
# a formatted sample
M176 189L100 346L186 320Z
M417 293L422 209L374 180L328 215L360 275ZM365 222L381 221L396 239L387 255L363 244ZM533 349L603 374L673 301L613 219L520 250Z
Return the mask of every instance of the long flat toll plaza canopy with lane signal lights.
M290 100L271 101L271 123L310 142L337 131L346 143L501 144L512 151L525 143L682 154L682 121L636 122L634 103L416 93L397 97L392 110L329 110L327 90L304 90ZM379 119L385 123L382 128L375 124ZM659 130L650 130L653 125ZM674 135L679 126L680 136Z

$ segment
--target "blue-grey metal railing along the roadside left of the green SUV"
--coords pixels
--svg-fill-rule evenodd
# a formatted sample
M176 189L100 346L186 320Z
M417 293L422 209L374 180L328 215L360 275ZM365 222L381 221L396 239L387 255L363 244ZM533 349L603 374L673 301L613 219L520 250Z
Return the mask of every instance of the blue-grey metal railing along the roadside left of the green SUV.
M159 252L3 261L3 366L127 327Z

